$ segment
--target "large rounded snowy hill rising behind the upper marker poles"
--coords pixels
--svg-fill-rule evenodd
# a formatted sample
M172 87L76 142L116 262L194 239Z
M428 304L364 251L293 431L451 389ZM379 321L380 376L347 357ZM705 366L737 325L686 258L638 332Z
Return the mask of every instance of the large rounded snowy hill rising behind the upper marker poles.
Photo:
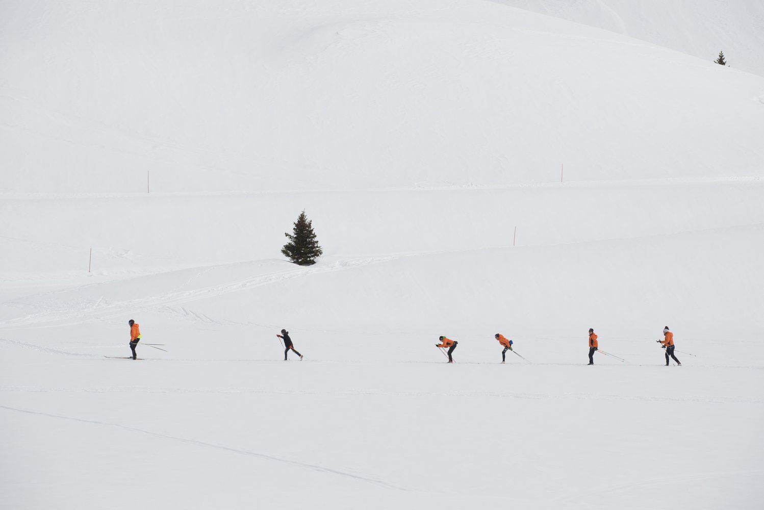
M764 78L491 2L3 13L11 192L762 175Z

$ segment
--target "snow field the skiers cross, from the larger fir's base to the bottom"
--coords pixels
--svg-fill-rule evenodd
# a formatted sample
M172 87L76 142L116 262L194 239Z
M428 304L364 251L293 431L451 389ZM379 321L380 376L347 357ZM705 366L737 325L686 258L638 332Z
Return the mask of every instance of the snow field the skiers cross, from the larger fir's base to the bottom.
M264 260L28 295L3 306L0 410L23 459L4 473L9 502L47 501L23 483L34 479L71 506L107 508L316 495L338 508L755 508L761 240L754 225ZM170 352L103 358L129 352L128 315ZM662 366L654 342L667 316L677 348L696 354L678 352L681 367ZM626 362L585 366L590 326ZM306 360L280 360L282 327ZM498 364L494 330L533 363ZM460 342L455 365L439 334ZM41 448L50 430L59 441ZM115 501L123 469L140 489Z

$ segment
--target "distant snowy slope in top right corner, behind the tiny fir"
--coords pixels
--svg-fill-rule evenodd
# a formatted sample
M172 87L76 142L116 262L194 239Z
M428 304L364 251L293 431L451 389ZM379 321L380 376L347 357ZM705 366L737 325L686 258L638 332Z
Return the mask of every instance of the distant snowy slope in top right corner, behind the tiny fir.
M735 69L764 76L759 0L491 0L647 40L701 60L724 51Z

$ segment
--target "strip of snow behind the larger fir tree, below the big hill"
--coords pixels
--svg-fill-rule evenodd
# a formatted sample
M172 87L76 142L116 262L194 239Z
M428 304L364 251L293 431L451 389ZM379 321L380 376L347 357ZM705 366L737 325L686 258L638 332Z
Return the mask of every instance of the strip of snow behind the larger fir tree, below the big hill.
M283 233L303 208L326 253L357 258L738 227L764 217L762 186L751 177L500 189L6 196L0 247L10 263L0 278L38 279L40 270L46 278L76 278L88 268L91 247L93 273L108 277L280 258Z

